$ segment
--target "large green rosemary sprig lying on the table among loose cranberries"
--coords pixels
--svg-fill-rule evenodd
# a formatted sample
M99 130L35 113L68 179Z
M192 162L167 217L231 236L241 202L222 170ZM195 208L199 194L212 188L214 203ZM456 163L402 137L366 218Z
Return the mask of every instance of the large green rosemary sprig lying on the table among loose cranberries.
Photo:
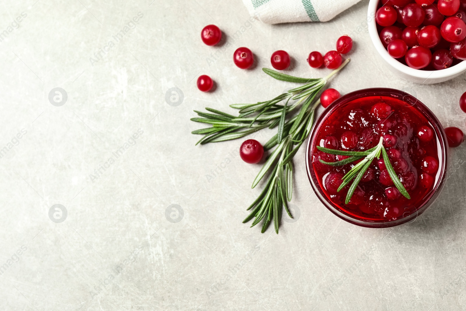
M211 126L192 132L204 135L197 143L201 145L241 138L266 127L278 126L277 133L264 145L264 150L274 147L275 149L254 179L252 187L256 187L267 174L268 180L262 192L247 208L247 210L252 209L252 212L243 223L254 218L251 225L253 227L263 220L261 232L264 233L270 222L274 221L275 232L278 234L283 207L288 216L293 218L288 209L288 201L291 200L293 193L292 159L307 138L314 123L315 108L320 104L319 100L316 101L316 96L327 81L348 62L349 59L346 59L338 69L333 70L325 78L300 78L264 68L262 70L265 73L277 80L306 84L268 101L257 104L230 105L239 110L237 117L212 108L206 108L212 113L195 111L199 117L192 118L192 121ZM290 100L295 99L298 99L296 103L290 104ZM284 104L279 104L281 102ZM299 112L291 117L291 112L299 106L301 106Z

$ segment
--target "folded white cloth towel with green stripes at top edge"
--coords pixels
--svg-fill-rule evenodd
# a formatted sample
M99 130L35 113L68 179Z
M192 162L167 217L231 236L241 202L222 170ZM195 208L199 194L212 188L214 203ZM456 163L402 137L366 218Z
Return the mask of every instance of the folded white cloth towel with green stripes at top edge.
M266 23L330 21L360 0L243 0L252 17Z

